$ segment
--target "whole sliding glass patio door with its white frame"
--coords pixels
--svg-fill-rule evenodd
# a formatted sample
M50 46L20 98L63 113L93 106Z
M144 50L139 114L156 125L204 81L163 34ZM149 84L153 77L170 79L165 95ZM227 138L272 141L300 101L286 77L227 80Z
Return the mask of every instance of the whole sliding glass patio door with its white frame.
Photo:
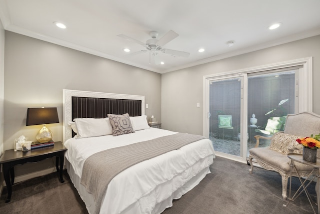
M289 64L203 77L203 135L217 155L245 160L254 136L271 137L287 114L312 111L311 60Z

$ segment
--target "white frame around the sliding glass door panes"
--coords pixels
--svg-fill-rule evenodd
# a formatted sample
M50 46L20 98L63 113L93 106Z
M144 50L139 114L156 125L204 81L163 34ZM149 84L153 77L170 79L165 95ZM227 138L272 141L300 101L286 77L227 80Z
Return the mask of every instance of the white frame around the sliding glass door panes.
M243 77L243 81L241 81L241 121L242 124L240 124L242 133L241 133L241 142L240 145L242 147L240 148L240 154L241 156L234 156L234 155L229 155L225 154L222 152L215 152L217 156L222 156L226 157L232 160L240 161L240 162L246 162L246 145L247 143L244 143L246 141L246 133L247 130L243 129L243 127L247 126L247 121L243 120L243 116L247 115L247 74L249 73L256 73L256 72L263 72L263 71L268 71L268 70L274 70L274 69L281 69L281 68L289 68L289 67L294 67L294 66L302 66L301 69L299 69L299 74L298 74L298 80L296 80L296 85L298 85L298 89L295 92L296 96L298 96L298 111L299 112L312 112L313 110L313 82L312 82L312 73L313 73L313 67L312 67L312 57L307 57L307 58L301 58L301 59L295 59L295 60L290 60L290 61L285 61L285 62L278 62L278 63L273 63L273 64L268 64L268 65L262 65L262 66L256 66L252 68L245 68L245 69L239 69L239 70L234 70L234 71L229 71L229 72L224 72L224 73L216 73L216 74L211 74L211 75L205 75L203 76L203 136L208 137L209 136L209 82L211 80L217 80L217 79L228 79L228 78L234 78L234 77ZM242 82L243 82L243 88L242 88ZM303 82L303 84L298 84L299 82Z

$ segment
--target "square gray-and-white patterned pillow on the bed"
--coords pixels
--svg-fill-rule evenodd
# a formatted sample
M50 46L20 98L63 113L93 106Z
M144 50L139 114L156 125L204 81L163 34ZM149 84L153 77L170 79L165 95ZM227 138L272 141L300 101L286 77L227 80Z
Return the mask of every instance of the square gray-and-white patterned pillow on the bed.
M129 114L107 114L111 126L112 126L112 135L118 136L121 134L133 133L134 130L131 125Z

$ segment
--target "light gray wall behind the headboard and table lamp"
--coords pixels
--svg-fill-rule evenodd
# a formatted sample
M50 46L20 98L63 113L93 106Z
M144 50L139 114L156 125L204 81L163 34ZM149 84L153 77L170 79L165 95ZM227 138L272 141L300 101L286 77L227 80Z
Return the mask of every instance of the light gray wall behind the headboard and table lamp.
M62 141L62 89L144 95L145 114L161 117L161 75L112 60L5 31L4 150L21 135L34 141L37 126L25 126L30 107L57 107L59 124L48 124Z

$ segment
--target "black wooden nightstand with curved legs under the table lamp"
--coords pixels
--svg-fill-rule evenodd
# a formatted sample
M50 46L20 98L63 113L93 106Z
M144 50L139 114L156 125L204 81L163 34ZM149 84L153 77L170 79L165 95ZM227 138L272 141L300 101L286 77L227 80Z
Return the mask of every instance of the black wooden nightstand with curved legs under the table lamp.
M3 175L8 190L8 195L5 202L9 202L11 199L12 185L14 183L14 166L17 164L24 164L30 162L38 162L50 157L56 157L55 167L59 172L59 180L61 183L64 182L62 177L64 151L66 148L62 142L54 142L54 146L32 149L26 152L14 151L14 149L5 150L0 157L0 164L3 165ZM59 168L60 162L60 168ZM10 182L11 177L11 182Z

